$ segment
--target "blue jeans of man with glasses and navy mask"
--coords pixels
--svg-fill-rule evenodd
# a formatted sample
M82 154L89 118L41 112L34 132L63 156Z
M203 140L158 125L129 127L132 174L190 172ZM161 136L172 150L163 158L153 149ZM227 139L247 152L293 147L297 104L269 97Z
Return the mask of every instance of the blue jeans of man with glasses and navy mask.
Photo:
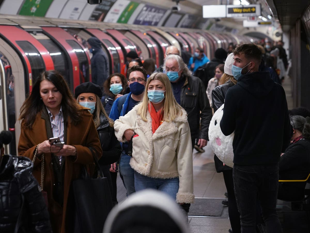
M127 196L135 192L135 170L132 169L129 164L130 159L131 156L125 154L125 151L122 151L121 159L118 164L119 172L123 177L123 183L127 191Z

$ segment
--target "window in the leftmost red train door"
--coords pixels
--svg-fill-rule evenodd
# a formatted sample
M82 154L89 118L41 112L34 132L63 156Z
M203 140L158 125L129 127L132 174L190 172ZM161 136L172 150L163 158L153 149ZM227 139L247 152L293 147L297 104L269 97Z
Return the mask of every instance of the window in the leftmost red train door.
M34 84L38 79L41 72L45 71L44 61L39 51L28 41L16 41L18 46L24 51L27 56L31 71L32 71L32 83Z

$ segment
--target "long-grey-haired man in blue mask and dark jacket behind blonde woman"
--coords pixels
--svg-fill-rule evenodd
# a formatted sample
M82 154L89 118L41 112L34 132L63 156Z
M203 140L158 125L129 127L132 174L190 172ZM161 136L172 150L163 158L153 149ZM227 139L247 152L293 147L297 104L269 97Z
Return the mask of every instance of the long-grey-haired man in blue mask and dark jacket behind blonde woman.
M192 75L178 55L166 57L163 71L169 77L176 101L187 112L192 147L194 148L196 138L200 148L206 146L209 140L208 131L212 110L203 82Z

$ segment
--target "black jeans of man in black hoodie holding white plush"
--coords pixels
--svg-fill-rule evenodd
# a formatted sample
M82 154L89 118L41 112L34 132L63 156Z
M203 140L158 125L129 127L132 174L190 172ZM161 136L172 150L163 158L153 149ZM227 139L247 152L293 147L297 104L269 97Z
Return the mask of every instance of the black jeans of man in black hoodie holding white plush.
M276 205L279 164L234 165L233 180L241 220L242 233L255 233L256 203L260 201L266 232L280 233Z

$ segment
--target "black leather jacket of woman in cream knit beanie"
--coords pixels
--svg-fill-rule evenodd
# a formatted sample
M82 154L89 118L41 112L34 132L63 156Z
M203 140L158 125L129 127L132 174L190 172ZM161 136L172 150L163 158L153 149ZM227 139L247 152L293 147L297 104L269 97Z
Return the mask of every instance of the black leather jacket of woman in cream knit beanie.
M214 112L221 107L224 103L225 100L225 95L228 90L228 88L232 87L234 85L233 82L230 80L227 81L226 83L219 85L215 87L215 89L212 90L212 103L213 103L213 109ZM215 169L217 172L221 171L226 171L226 170L231 170L231 167L228 166L223 166L223 162L219 160L219 158L214 154L214 163L215 163Z

